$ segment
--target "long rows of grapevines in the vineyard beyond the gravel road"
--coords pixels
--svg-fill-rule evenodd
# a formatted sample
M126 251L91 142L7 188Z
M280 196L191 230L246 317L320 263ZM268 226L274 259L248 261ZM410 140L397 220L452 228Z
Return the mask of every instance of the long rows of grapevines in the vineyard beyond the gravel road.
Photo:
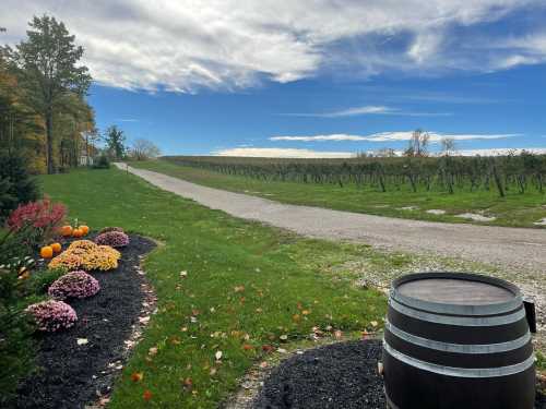
M415 153L415 151L413 151ZM346 159L284 159L222 156L166 156L165 160L224 175L264 181L355 185L381 192L496 190L544 193L546 155L522 152L502 156L406 155Z

